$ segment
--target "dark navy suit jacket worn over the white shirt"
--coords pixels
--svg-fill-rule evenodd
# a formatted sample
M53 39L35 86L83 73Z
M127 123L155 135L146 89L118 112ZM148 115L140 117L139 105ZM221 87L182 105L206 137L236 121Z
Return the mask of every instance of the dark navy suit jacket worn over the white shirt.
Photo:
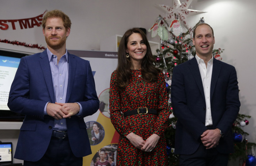
M216 147L219 152L233 152L231 127L240 107L237 73L232 65L213 59L210 86L213 129L224 133ZM178 118L175 134L175 153L190 155L199 147L205 126L206 102L197 60L193 58L177 65L171 82L171 102Z

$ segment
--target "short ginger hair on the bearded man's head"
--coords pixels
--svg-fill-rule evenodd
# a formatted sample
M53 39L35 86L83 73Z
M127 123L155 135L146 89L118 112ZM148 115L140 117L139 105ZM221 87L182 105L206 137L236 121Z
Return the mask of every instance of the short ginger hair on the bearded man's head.
M46 20L48 18L53 18L53 17L61 18L62 21L63 21L65 29L71 27L71 20L70 20L69 16L67 16L61 10L55 9L55 10L47 11L46 14L43 16L43 20L42 20L43 29L45 29Z

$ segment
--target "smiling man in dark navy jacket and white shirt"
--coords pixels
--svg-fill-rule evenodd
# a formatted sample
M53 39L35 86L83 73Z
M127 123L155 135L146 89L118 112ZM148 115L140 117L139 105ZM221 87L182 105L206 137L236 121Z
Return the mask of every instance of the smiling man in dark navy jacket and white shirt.
M173 70L171 101L177 117L175 153L182 166L226 166L231 127L240 107L237 73L213 57L213 29L194 29L196 56Z

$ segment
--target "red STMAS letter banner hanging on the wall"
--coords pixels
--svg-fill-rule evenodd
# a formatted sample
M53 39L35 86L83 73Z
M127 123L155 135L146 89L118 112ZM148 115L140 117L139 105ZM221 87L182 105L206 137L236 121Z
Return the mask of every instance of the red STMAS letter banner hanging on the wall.
M0 20L0 29L7 30L9 26L11 26L13 30L15 30L17 25L19 25L21 29L33 28L34 26L40 27L42 24L43 14L33 18Z

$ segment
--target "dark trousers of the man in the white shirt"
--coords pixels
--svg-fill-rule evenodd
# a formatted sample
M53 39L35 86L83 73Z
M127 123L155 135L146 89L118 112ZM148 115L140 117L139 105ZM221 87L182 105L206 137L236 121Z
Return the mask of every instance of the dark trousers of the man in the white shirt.
M228 154L221 154L216 148L206 149L201 143L192 155L179 155L179 166L227 166Z

